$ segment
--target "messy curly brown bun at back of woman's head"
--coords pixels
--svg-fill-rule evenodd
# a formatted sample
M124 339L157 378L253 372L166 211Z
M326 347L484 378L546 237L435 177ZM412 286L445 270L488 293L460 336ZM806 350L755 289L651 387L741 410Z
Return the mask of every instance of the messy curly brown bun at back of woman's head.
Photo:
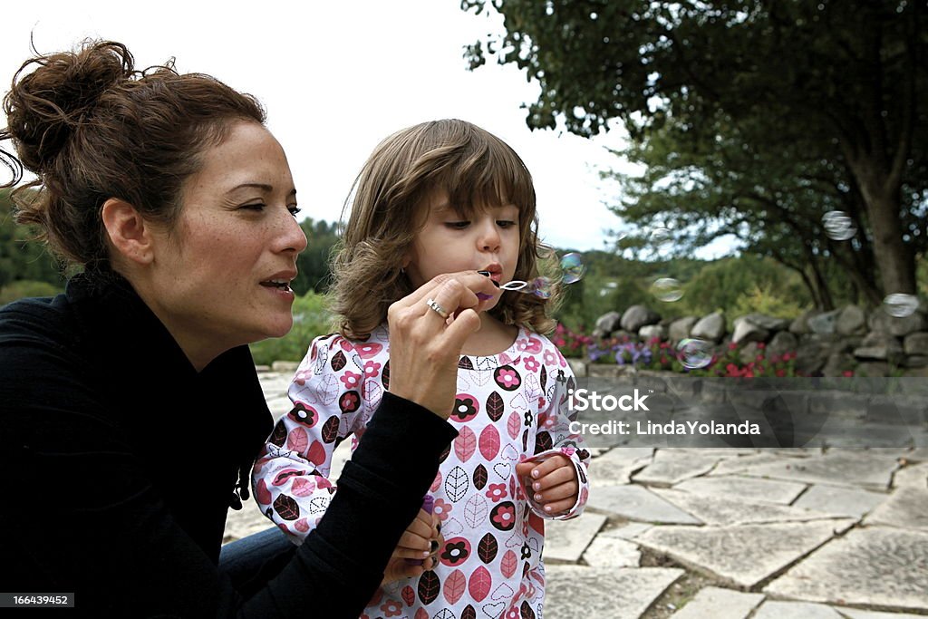
M38 68L27 72L32 65ZM23 165L43 173L100 97L133 72L132 54L112 41L85 41L77 51L27 60L4 99L5 133Z

